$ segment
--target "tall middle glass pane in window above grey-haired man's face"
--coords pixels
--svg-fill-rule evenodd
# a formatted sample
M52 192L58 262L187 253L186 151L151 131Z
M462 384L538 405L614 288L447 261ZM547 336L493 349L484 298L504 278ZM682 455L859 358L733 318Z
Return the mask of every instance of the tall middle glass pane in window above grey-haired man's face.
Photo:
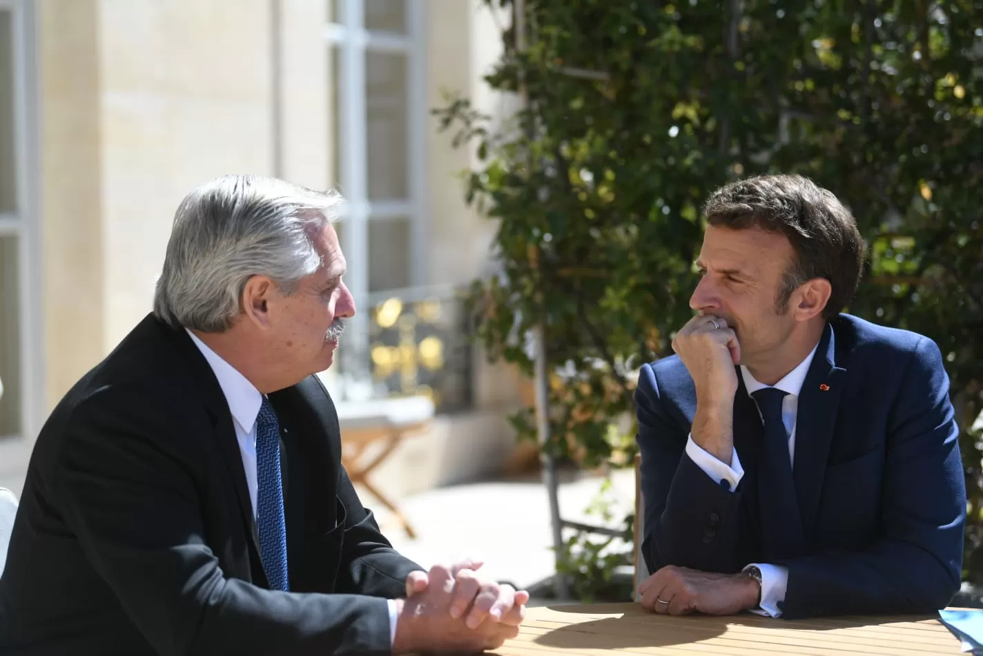
M406 56L366 53L366 161L369 200L409 197Z

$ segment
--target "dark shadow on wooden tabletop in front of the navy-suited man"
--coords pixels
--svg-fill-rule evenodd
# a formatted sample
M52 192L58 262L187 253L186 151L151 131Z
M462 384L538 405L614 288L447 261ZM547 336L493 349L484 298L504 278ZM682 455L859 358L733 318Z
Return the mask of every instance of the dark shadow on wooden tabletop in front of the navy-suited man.
M550 606L551 610L569 614L609 614L608 605ZM714 617L689 615L673 618L653 615L640 610L628 610L620 617L607 617L580 624L559 626L534 638L537 644L556 648L578 649L630 649L636 647L666 647L709 640L723 635L727 626L753 626L768 630L774 628L805 628L809 630L833 630L895 624L924 617L846 617L816 618L808 621L773 620L756 615Z

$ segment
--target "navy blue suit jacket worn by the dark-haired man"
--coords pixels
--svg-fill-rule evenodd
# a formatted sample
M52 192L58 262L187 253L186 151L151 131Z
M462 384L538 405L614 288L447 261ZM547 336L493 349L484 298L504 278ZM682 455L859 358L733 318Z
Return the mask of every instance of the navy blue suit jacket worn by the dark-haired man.
M642 367L635 400L650 571L763 562L761 418L737 379L733 438L745 473L731 492L684 452L696 411L686 367L676 356ZM957 437L931 339L848 315L827 325L798 400L793 473L807 553L775 563L788 568L782 617L926 613L952 600L966 513Z

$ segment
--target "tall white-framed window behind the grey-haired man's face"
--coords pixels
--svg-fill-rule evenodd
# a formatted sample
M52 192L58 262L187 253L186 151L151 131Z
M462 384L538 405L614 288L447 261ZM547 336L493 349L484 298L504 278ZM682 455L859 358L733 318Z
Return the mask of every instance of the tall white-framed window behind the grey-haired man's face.
M341 393L358 397L369 303L426 282L423 0L327 0L327 20L328 184L347 202L337 230L362 309L339 351Z

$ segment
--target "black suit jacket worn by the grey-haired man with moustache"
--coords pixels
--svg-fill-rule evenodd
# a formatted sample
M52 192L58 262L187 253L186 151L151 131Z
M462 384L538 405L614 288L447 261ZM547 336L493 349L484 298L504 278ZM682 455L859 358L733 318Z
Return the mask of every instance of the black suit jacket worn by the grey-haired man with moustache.
M292 592L260 565L229 407L183 329L147 317L58 404L0 578L0 653L390 653L397 554L340 464L316 377L269 394Z

